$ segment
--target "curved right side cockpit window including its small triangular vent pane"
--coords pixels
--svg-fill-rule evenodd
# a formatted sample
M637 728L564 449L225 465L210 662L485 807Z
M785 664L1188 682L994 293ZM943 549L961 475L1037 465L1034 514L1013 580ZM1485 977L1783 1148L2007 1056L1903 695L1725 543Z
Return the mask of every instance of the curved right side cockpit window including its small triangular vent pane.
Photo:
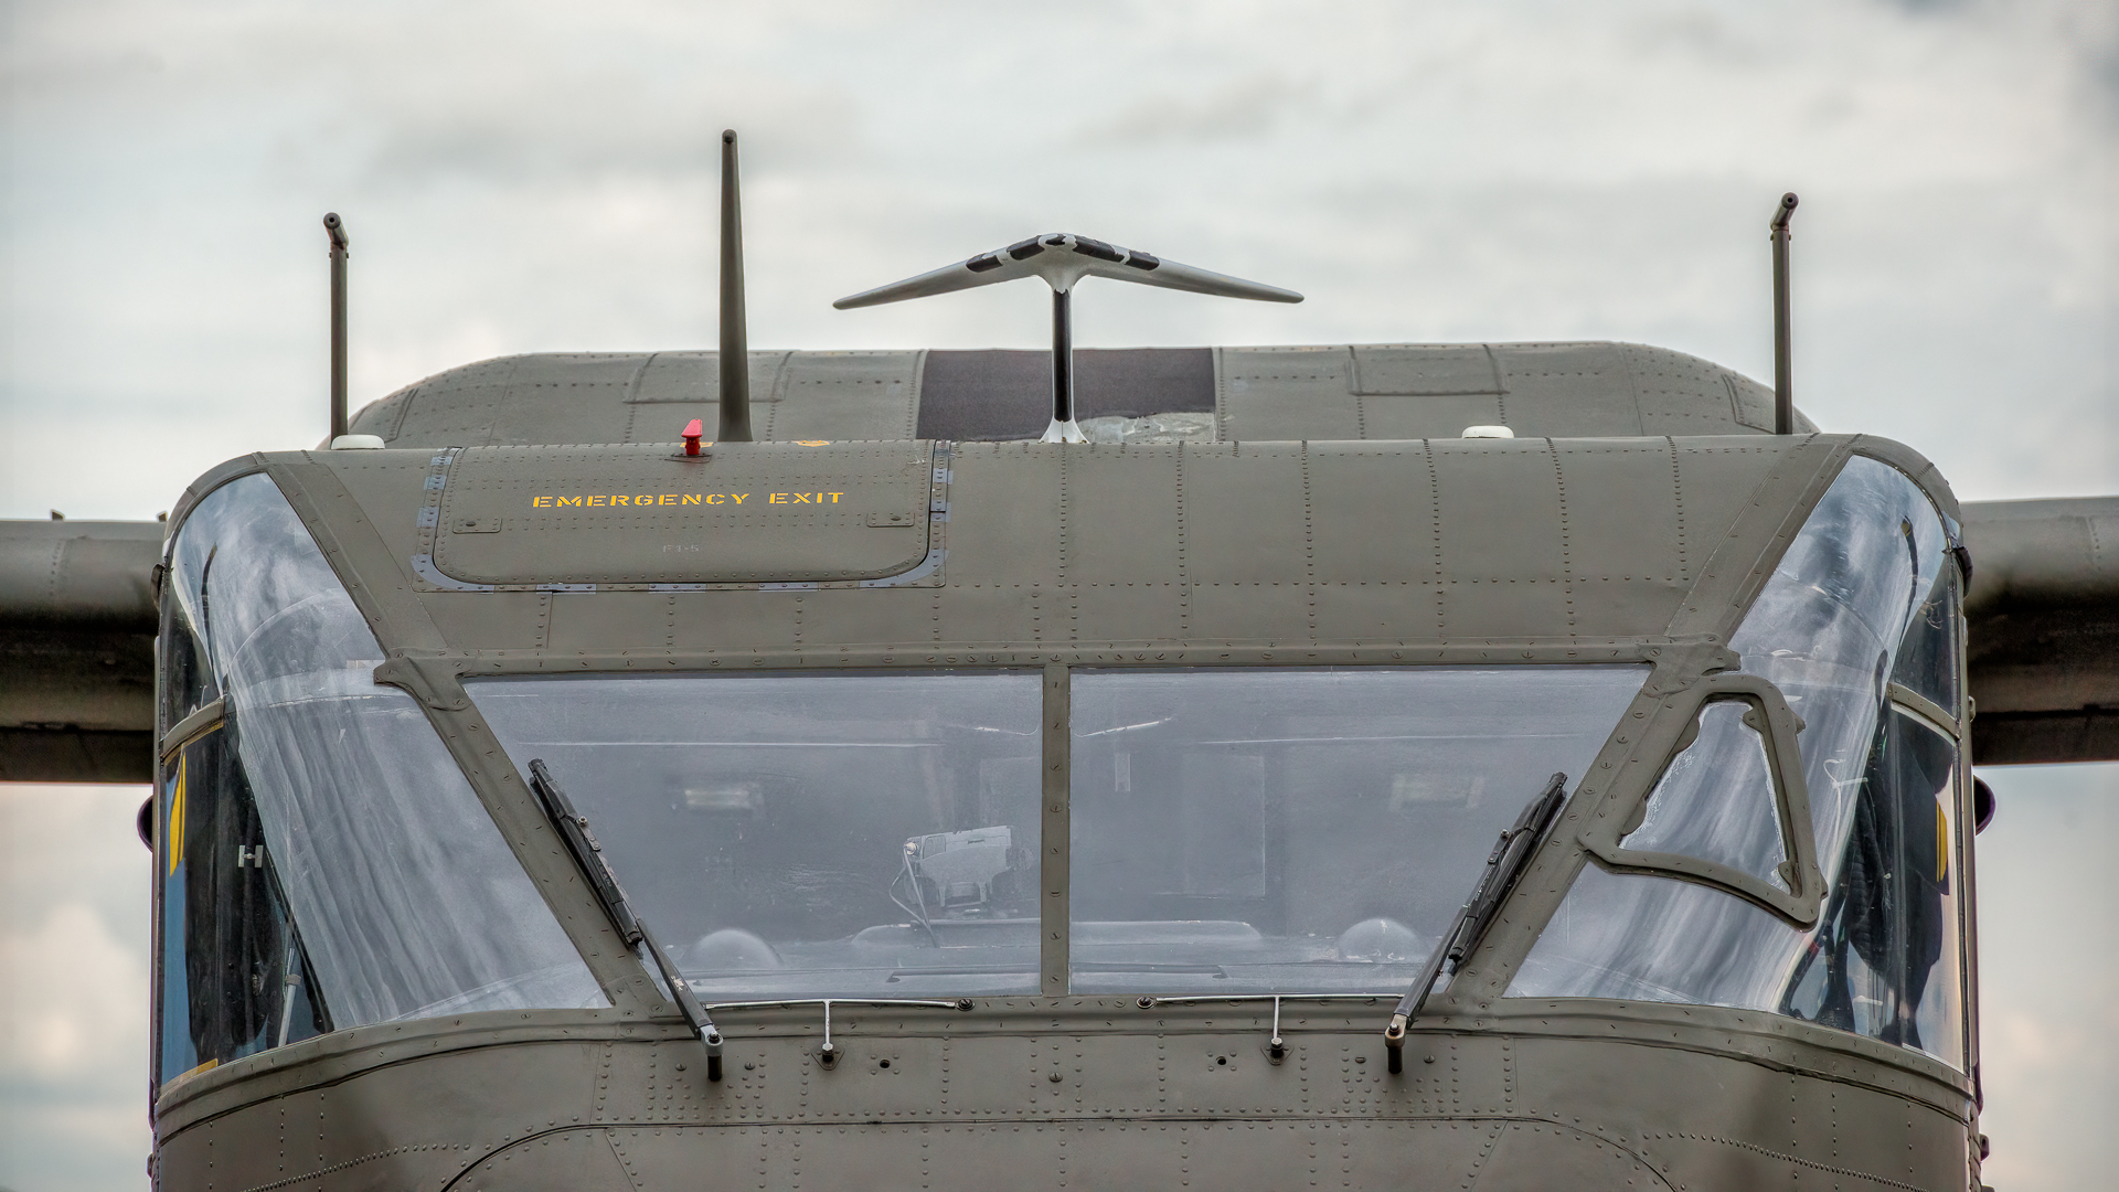
M1733 634L1742 672L1699 681L1755 704L1663 728L1509 995L1767 1010L1962 1067L1960 617L1935 505L1852 458Z

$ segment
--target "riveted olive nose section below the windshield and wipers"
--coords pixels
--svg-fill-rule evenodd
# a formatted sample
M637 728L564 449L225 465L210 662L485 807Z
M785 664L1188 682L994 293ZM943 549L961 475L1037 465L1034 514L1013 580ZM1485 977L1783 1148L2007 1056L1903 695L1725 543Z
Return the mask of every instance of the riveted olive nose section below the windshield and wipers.
M180 1086L161 1107L163 1171L227 1188L441 1188L458 1171L475 1184L511 1171L511 1188L542 1188L523 1156L574 1173L570 1156L589 1152L557 1150L585 1145L566 1135L612 1139L644 1188L699 1171L769 1186L875 1186L877 1171L903 1171L937 1188L1062 1188L1119 1171L1089 1158L1098 1147L1146 1186L1204 1173L1257 1186L1246 1171L1316 1167L1352 1188L1538 1188L1581 1173L1646 1188L1952 1188L1971 1167L1962 1077L1810 1022L1507 1003L1458 1027L1422 1020L1405 1073L1390 1075L1375 1031L1388 999L1284 1005L1278 1065L1267 1007L841 1007L831 1069L816 1063L816 1005L759 1007L723 1016L718 1084L674 1020L500 1012L367 1027ZM875 1167L875 1147L903 1154Z

